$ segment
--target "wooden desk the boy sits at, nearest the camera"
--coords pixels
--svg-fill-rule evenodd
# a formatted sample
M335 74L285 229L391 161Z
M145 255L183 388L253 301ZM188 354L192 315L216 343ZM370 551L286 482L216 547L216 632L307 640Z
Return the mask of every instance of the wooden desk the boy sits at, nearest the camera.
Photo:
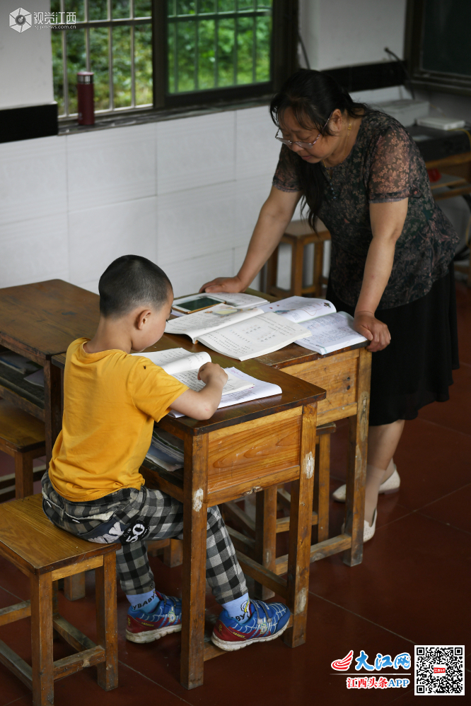
M147 350L165 348L206 350L185 336L167 334ZM214 363L223 367L235 364L231 358L210 353ZM54 357L54 363L63 367L64 355ZM276 495L280 483L291 482L288 577L281 578L267 568L262 556L259 563L238 552L238 559L247 575L289 605L292 623L284 642L296 647L306 640L313 449L317 405L325 398L325 390L257 360L236 364L248 375L278 384L283 392L225 407L209 420L165 416L159 426L185 443L184 472L159 471L147 459L141 468L146 485L172 495L184 507L180 680L186 688L203 683L205 659L225 654L212 644L204 645L206 526L211 505L252 492Z

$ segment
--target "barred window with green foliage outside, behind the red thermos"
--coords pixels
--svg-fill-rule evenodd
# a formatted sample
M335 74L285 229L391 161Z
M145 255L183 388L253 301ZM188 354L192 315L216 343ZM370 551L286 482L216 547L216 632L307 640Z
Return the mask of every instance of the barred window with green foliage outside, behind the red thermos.
M93 71L95 112L109 114L257 98L296 68L293 0L51 0L51 13L76 17L51 31L63 118L78 71Z

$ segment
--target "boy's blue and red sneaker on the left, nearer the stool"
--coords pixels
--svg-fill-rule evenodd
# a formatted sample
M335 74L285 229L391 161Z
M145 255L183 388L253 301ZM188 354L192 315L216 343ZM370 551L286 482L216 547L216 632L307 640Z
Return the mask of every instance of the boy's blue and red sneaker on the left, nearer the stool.
M127 611L126 639L131 642L153 642L168 633L178 633L182 629L182 601L173 596L165 596L156 591L161 599L152 613Z

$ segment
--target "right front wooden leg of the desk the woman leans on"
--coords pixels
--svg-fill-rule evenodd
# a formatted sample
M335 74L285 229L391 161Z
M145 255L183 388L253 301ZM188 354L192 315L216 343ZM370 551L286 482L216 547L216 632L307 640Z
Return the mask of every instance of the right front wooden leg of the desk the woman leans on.
M351 534L351 548L344 563L360 564L363 559L365 479L368 455L368 414L370 411L371 353L360 348L358 366L358 411L349 417L349 467L345 502L345 533Z

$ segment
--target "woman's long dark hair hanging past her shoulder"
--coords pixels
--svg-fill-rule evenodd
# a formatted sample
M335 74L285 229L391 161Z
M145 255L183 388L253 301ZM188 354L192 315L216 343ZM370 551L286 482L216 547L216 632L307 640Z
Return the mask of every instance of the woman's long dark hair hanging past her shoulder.
M351 100L337 81L320 71L299 69L281 86L270 105L270 114L274 124L279 127L280 120L286 108L291 108L293 115L305 129L317 129L322 135L332 134L325 123L336 108L350 117L358 117L368 107L364 103ZM318 216L322 195L325 189L325 175L320 163L309 164L301 158L296 160L298 177L303 189L302 208L308 206L308 222L315 230L315 219Z

